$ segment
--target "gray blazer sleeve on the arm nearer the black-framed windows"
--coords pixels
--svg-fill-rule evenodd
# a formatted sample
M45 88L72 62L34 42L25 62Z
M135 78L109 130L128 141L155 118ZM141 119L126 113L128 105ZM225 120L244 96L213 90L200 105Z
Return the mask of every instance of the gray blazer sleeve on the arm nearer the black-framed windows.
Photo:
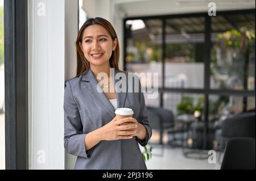
M144 94L143 94L143 92L141 92L141 82L140 81L139 81L139 104L141 106L141 109L139 112L138 121L139 121L139 123L144 125L144 127L146 128L147 136L144 140L139 140L139 138L137 138L137 137L136 137L136 139L139 142L139 144L141 144L142 146L146 146L148 140L150 140L150 138L152 136L152 129L150 127L150 124L149 124L149 121L147 118L147 107L145 104Z

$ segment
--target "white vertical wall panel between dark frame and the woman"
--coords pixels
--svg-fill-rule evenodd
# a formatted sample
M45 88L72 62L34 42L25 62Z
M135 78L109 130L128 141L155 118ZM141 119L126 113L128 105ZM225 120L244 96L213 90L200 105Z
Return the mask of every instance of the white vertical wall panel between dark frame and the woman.
M30 169L64 169L64 5L28 1Z

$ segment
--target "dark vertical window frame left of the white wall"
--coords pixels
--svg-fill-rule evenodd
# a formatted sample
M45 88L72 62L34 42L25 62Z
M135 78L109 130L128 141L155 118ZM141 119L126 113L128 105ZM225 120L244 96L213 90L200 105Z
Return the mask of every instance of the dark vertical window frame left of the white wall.
M4 1L6 169L28 169L27 0Z

